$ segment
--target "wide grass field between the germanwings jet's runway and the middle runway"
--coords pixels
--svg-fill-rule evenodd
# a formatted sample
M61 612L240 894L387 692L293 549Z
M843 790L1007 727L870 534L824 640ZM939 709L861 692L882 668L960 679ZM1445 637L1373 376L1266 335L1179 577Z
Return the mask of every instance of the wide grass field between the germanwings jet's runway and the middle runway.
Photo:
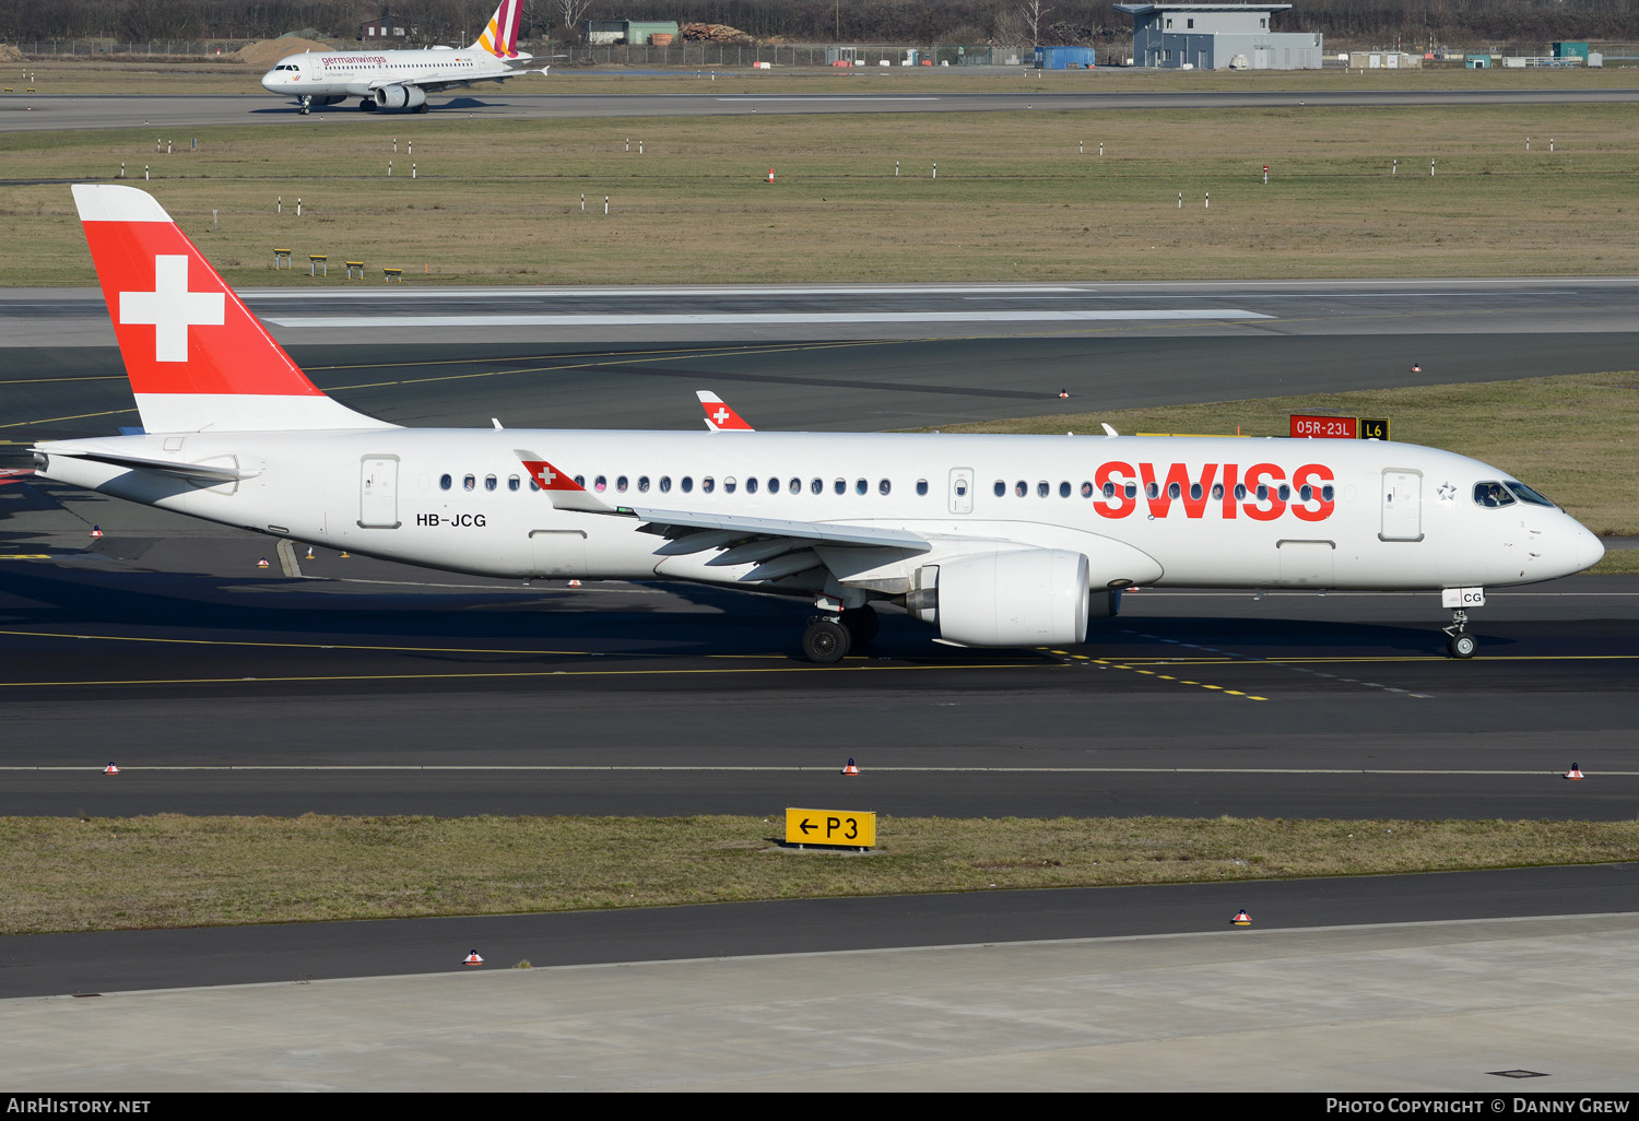
M382 266L408 284L1634 274L1631 118L1308 107L8 133L0 225L28 251L0 259L0 285L93 284L66 184L121 162L236 285L349 284L274 272L275 247L362 259L375 284Z

